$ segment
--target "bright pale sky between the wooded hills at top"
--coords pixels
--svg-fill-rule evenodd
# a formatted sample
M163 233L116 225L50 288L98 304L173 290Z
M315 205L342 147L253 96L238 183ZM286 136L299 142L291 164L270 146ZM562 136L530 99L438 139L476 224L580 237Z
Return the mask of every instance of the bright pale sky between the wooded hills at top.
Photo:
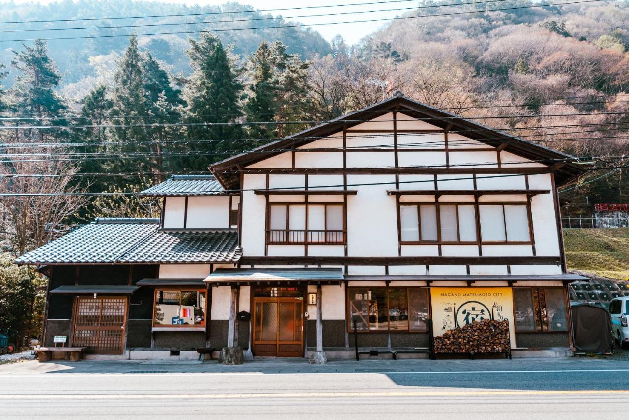
M54 3L54 0L16 0L14 3ZM153 1L153 0L149 0ZM227 3L226 0L155 0L160 3L177 3L177 4L200 4L200 5L213 5L218 6ZM339 4L352 4L352 3L374 3L378 0L319 0L319 1L307 1L307 0L232 0L233 3L248 4L253 9L282 9L282 8L301 8L308 6L332 6ZM382 0L381 0L382 1ZM384 0L391 1L391 0ZM0 1L0 4L2 2ZM389 19L394 18L400 14L405 13L408 9L417 6L417 1L400 0L391 3L384 4L370 4L362 6L342 6L333 8L319 8L319 9L303 9L303 10L282 10L269 12L274 16L281 15L285 19L291 18L291 16L303 16L307 14L319 14L323 16L294 18L293 21L299 21L306 24L318 24L318 23L330 23L338 21L353 21L364 19L386 19L378 22L363 22L363 23L344 23L341 25L315 25L312 28L319 31L323 37L330 41L335 35L340 34L345 38L345 41L349 44L357 43L364 36L376 31L382 25L386 25ZM402 9L402 10L389 10L382 11L384 9ZM370 13L357 13L357 14L340 14L338 16L330 16L332 13L347 13L347 12L370 12Z

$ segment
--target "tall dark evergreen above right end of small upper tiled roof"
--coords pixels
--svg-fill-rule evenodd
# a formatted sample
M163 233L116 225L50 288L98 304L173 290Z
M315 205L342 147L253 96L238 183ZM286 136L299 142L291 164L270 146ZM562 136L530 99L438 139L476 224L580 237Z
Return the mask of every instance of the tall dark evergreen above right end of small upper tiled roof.
M228 140L243 137L242 127L232 125L240 116L242 109L239 100L242 84L232 69L228 52L220 39L211 34L202 34L199 41L190 40L186 51L190 58L192 75L186 79L185 95L187 101L188 123L214 123L216 126L188 126L187 139L194 152L216 150L242 150L238 141L198 142L198 140ZM227 125L225 125L227 124ZM208 165L223 155L194 156L185 160L187 170L206 171Z

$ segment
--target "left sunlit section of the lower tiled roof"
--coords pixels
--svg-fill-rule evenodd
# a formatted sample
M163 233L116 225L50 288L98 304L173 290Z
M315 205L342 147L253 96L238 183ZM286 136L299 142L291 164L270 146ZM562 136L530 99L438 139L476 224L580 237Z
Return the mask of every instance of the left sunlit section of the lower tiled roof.
M18 264L115 263L157 230L159 219L103 219L25 253Z

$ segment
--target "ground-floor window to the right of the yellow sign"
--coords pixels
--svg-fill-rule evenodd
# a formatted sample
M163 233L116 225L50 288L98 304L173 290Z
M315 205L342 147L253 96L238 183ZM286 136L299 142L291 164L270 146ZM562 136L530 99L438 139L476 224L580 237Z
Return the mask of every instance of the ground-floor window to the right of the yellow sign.
M564 289L515 287L516 331L568 331Z

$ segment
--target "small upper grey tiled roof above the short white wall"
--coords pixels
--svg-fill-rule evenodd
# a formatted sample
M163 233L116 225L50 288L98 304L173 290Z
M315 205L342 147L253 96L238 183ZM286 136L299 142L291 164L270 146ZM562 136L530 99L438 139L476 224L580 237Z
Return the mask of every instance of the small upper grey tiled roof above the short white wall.
M214 175L172 175L164 182L138 193L140 197L225 196Z

